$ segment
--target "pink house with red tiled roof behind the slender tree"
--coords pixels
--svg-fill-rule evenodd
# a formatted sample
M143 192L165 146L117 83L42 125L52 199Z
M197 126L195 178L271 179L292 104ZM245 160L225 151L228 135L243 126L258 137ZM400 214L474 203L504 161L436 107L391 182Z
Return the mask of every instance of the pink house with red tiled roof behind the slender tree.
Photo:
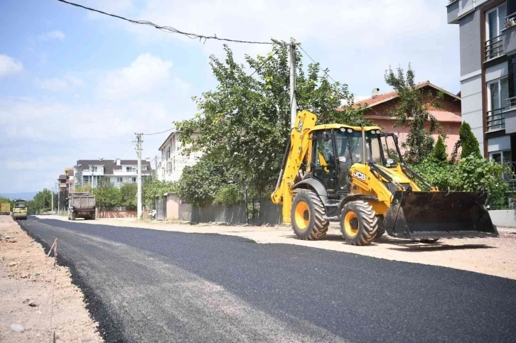
M458 130L461 127L461 97L460 93L455 95L444 89L432 85L429 81L421 82L416 85L416 88L422 89L425 104L429 107L429 112L433 114L437 121L441 124L446 132L446 150L448 156L453 151L453 146L458 141ZM435 99L437 92L444 93L444 99L435 100L441 104L441 109L436 109L432 105L432 100ZM401 126L394 126L396 119L389 116L389 111L397 107L399 104L399 97L397 92L388 92L380 94L380 89L373 89L372 97L362 100L358 104L367 104L368 108L365 111L365 118L370 119L378 126L382 126L385 132L394 132L398 134L399 142L407 137L408 129ZM434 134L434 139L437 140L437 134ZM401 148L401 147L400 147Z

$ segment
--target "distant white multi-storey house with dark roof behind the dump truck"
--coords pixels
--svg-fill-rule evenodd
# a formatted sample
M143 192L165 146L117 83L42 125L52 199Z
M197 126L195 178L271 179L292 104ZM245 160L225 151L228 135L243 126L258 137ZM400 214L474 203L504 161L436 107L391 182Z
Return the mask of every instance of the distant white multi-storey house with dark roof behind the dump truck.
M90 184L97 187L100 178L109 178L109 182L120 187L123 183L136 183L138 160L77 160L74 166L75 187ZM151 175L151 162L141 161L141 175Z

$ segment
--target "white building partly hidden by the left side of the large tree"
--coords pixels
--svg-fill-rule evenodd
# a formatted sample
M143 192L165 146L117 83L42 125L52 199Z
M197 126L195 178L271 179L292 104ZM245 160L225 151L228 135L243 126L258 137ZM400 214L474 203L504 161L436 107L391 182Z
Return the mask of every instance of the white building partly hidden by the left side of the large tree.
M156 175L158 180L176 182L181 178L183 169L187 165L195 165L203 154L196 151L189 156L183 155L183 146L178 142L180 132L173 132L159 147L161 162L158 164ZM198 136L195 134L193 138ZM187 146L188 147L188 146Z

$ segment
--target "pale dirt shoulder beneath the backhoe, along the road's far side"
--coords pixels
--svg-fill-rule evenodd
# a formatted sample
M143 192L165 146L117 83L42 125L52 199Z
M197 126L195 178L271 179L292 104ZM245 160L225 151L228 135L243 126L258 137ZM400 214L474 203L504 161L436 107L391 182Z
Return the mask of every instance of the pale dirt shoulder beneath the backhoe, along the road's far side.
M67 220L58 216L41 217ZM500 228L498 238L441 239L436 244L421 244L386 235L370 246L350 246L343 241L338 227L330 227L328 235L321 241L301 241L296 239L290 227L190 225L142 222L134 218L97 219L95 221L87 220L84 223L200 234L227 234L252 239L262 244L311 246L318 249L344 251L394 261L444 266L516 280L515 229Z

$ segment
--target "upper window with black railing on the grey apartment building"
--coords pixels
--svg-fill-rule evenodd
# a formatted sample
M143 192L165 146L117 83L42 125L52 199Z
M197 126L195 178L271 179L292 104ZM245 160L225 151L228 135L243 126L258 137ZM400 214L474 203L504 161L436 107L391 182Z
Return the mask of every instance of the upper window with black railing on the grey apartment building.
M503 51L503 40L500 37L505 28L507 7L502 4L485 13L485 59L497 58Z

